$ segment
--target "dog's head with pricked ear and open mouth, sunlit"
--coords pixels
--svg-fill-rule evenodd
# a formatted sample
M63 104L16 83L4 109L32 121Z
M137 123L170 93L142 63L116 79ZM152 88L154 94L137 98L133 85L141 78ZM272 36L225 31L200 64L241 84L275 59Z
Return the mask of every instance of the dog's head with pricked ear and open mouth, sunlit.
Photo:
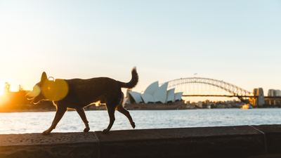
M31 103L37 104L41 100L48 100L44 97L41 91L41 86L44 83L44 81L48 81L46 72L42 73L41 81L39 81L35 86L33 87L33 90L30 93L27 93L26 97L28 100L32 100Z

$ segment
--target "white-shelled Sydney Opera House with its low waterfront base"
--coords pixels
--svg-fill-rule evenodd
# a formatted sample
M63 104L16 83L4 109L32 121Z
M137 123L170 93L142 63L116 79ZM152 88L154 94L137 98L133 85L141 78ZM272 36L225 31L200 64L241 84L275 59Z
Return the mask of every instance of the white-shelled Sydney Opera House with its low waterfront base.
M127 91L125 107L127 109L181 109L183 92L175 93L175 88L167 91L168 82L159 86L158 81L150 84L143 93ZM178 102L180 101L180 102Z

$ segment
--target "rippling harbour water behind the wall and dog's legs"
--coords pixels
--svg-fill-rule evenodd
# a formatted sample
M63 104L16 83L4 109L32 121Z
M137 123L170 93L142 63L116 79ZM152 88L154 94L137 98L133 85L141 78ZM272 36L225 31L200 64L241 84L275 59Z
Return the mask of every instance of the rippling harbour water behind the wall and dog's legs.
M136 129L166 129L201 126L281 124L281 108L211 110L131 110ZM0 134L41 133L48 129L55 112L0 113ZM101 131L109 123L107 111L86 111L90 131ZM115 112L112 130L132 129L128 119ZM84 123L75 111L65 113L53 132L81 132Z

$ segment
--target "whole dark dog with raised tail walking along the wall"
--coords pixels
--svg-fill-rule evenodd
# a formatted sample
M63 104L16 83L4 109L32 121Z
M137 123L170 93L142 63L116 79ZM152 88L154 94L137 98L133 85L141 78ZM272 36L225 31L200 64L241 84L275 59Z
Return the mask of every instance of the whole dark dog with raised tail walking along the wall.
M56 79L55 81L57 81ZM57 126L63 114L67 111L67 108L77 111L81 119L83 120L86 128L84 132L90 130L89 121L86 119L84 107L93 103L104 103L107 108L107 113L110 117L110 123L106 129L103 129L102 133L108 133L115 121L115 110L124 114L130 121L131 126L135 129L136 125L129 112L122 106L124 93L121 88L133 88L138 84L138 73L136 67L131 70L131 81L124 83L122 81L116 81L108 77L97 77L92 79L60 79L61 85L65 85L65 91L63 96L56 98L49 97L50 94L59 94L58 91L62 91L60 85L52 84L55 81L50 81L47 78L46 72L41 75L41 81L37 83L30 93L27 93L28 100L32 100L31 103L37 104L41 100L51 100L56 107L55 118L53 122L43 135L49 135L53 129ZM44 86L45 85L45 86ZM47 88L46 88L46 85ZM53 86L50 86L53 85ZM52 91L53 89L53 91ZM48 94L48 95L47 95Z

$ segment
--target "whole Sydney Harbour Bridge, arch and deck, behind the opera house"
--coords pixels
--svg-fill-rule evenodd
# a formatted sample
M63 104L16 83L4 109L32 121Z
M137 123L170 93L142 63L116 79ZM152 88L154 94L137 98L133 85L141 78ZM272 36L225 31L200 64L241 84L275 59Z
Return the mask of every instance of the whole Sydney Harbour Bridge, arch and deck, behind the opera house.
M254 89L253 92L250 92L226 81L202 77L171 80L168 84L168 90L171 88L175 88L175 92L183 92L183 97L237 97L244 103L249 103L249 100L263 99L264 102L265 99L281 98L263 96L262 88L259 88L257 91Z

